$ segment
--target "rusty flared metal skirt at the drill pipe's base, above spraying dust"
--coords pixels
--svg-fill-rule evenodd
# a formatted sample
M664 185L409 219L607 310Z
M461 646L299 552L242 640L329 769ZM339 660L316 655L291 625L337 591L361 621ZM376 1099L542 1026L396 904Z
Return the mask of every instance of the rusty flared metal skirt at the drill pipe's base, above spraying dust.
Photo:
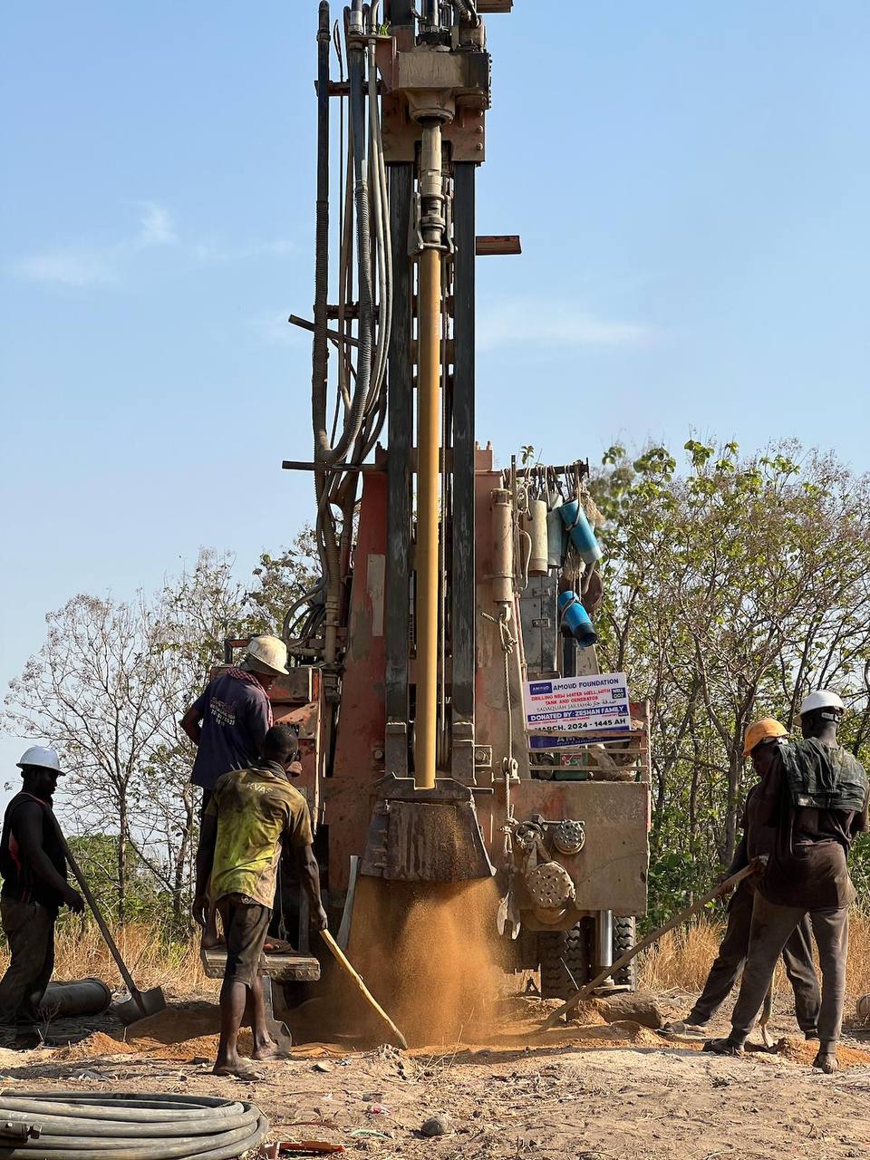
M438 777L434 790L416 790L409 777L384 777L361 870L393 882L491 878L471 788Z

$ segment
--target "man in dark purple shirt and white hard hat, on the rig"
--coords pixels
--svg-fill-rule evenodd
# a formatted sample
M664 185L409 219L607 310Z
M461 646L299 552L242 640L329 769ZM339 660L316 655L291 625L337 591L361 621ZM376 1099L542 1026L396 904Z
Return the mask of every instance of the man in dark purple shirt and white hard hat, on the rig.
M252 637L244 660L210 681L182 717L181 727L196 746L190 781L202 788L203 813L219 777L231 769L248 769L259 760L273 724L268 691L277 676L287 676L283 640ZM218 941L212 909L203 945L213 947Z

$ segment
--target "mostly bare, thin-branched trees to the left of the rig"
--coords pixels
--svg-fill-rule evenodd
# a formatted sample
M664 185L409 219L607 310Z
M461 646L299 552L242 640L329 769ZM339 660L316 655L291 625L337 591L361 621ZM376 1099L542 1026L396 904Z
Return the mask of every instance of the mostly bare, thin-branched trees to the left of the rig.
M46 616L42 650L10 682L3 725L60 751L60 810L119 921L162 909L175 929L187 926L198 793L181 717L223 661L225 638L281 632L310 583L312 545L305 529L263 554L249 588L232 556L203 550L153 596L74 596Z

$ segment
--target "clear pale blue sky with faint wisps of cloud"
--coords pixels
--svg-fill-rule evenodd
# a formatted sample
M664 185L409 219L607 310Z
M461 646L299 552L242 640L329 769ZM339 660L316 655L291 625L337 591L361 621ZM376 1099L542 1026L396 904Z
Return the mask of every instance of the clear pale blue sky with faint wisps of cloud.
M339 6L335 7L335 14ZM544 19L546 16L546 20ZM3 13L0 681L78 592L310 517L316 0ZM870 467L870 6L490 19L478 437L796 435ZM19 740L0 746L5 774Z

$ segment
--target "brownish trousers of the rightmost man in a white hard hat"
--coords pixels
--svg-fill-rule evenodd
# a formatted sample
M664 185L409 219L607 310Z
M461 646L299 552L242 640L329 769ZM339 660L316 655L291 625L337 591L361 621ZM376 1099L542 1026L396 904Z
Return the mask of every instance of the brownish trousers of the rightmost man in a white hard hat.
M806 921L807 914L821 967L820 1050L833 1051L836 1047L843 1017L846 958L849 952L848 907L805 911L799 906L776 906L759 893L755 894L744 981L731 1016L732 1039L744 1043L752 1031L774 977L776 960L797 926Z

